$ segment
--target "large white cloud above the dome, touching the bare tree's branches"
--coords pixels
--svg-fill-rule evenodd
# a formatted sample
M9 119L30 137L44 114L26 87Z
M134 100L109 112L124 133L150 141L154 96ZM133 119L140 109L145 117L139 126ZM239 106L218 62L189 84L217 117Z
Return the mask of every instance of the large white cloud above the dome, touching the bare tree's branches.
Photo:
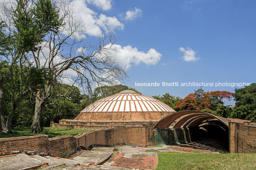
M131 68L132 64L139 65L140 63L145 63L146 65L156 65L162 56L155 49L149 49L147 52L144 52L130 45L125 47L118 44L112 45L115 50L111 51L110 55L126 71Z

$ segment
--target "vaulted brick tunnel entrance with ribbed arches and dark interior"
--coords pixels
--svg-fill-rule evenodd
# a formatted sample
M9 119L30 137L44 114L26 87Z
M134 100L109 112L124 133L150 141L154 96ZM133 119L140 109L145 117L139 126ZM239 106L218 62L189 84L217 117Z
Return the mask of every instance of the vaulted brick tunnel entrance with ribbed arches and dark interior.
M210 113L183 110L171 113L154 126L155 143L189 144L229 151L228 121Z

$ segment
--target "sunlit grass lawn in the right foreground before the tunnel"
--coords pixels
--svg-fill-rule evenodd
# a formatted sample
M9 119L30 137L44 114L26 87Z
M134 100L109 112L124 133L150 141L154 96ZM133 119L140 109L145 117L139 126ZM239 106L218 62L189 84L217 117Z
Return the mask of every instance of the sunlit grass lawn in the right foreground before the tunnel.
M150 151L152 152L152 151ZM156 170L256 170L256 154L157 152Z

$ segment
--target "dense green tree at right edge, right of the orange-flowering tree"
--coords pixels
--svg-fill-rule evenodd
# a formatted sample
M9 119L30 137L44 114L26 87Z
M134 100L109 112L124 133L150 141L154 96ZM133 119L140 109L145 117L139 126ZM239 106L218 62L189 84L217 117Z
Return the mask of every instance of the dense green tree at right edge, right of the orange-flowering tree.
M235 89L235 108L231 118L256 121L256 83Z

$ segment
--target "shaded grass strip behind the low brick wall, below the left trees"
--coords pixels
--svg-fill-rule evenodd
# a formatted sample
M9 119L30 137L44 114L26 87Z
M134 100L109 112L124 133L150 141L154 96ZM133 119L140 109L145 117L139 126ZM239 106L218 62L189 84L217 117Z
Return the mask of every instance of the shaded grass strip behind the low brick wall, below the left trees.
M12 130L14 131L14 133L11 133L11 134L0 133L0 138L38 135L38 134L30 133L29 128L13 128ZM63 136L63 135L74 136L74 135L77 135L78 133L86 133L88 131L93 131L93 130L46 127L46 128L43 128L43 131L40 134L45 134L45 135L48 135L49 138L53 138L56 136Z

